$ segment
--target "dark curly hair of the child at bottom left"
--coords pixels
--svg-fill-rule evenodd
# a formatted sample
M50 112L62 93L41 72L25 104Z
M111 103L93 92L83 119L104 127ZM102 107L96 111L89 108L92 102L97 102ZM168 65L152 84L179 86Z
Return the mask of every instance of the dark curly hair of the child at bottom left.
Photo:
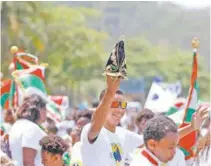
M56 135L48 135L40 140L40 145L43 151L47 151L52 154L63 155L69 148L69 145L65 141Z

